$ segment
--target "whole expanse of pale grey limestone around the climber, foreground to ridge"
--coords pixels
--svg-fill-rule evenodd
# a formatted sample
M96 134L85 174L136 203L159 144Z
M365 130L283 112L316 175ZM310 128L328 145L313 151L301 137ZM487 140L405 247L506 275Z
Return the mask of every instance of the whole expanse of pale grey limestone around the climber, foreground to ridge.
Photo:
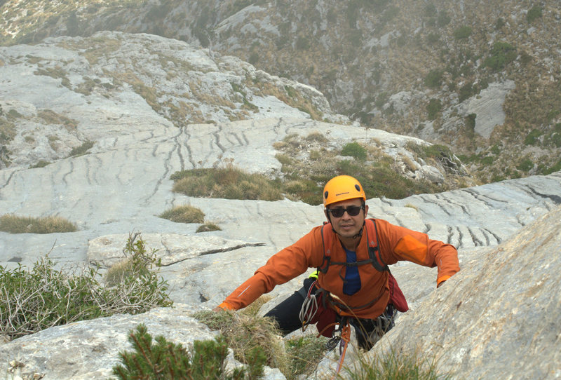
M364 128L332 111L310 86L183 41L100 32L3 47L0 60L7 136L1 214L58 215L79 227L45 235L0 232L0 265L30 266L48 253L60 268L95 264L103 271L122 259L128 233L140 231L158 249L175 302L175 308L52 327L0 344L0 369L16 367L18 376L105 379L138 323L183 344L208 339L214 333L191 313L216 306L271 254L323 222L320 205L301 201L177 194L170 179L177 170L233 162L280 175L273 145L320 133L332 149L372 144L396 161L416 163L405 165L413 174L426 165L449 176L438 161L409 150L409 143L428 143ZM411 310L384 342L405 351L414 336L419 350L443 358L445 370L461 369L458 379L559 378L560 184L554 172L399 200L369 197L370 216L456 245L462 267L435 290L434 269L394 266ZM197 224L158 217L184 204L203 210L221 231L196 233ZM264 308L300 280L273 290ZM318 378L332 376L330 362L320 365ZM525 365L508 365L513 362ZM269 369L266 378L283 376Z

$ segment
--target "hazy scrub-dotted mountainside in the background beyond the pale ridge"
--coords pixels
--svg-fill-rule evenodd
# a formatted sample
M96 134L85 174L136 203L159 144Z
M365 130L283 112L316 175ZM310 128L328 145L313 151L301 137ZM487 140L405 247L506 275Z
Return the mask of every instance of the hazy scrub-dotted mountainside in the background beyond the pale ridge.
M366 126L449 145L482 183L561 169L553 0L12 0L0 10L4 45L119 30L235 55L318 88Z

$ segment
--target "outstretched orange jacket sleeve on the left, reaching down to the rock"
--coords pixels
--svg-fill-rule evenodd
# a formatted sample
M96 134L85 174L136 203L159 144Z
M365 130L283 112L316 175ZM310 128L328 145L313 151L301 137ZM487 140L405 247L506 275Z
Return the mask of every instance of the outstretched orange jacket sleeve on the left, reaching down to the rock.
M245 283L238 286L219 306L238 310L248 306L276 285L287 283L323 259L320 227L314 228L296 243L273 255Z

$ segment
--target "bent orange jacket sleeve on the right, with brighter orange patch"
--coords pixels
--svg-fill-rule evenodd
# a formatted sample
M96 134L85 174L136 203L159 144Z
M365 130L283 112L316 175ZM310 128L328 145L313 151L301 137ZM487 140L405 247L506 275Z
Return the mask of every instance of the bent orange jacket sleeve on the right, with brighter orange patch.
M413 231L376 219L381 257L386 264L407 260L424 266L438 266L436 284L459 272L458 251L454 245L428 238Z

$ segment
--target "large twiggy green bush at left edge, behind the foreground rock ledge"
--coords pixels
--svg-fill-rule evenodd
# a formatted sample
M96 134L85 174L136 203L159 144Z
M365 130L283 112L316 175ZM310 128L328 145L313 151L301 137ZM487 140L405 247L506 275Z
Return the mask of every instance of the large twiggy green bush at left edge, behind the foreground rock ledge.
M48 255L32 270L0 266L0 334L15 339L77 320L170 306L168 285L158 278L155 257L142 240L129 237L123 252L131 256L132 270L107 285L98 280L97 269L79 275L55 270Z

